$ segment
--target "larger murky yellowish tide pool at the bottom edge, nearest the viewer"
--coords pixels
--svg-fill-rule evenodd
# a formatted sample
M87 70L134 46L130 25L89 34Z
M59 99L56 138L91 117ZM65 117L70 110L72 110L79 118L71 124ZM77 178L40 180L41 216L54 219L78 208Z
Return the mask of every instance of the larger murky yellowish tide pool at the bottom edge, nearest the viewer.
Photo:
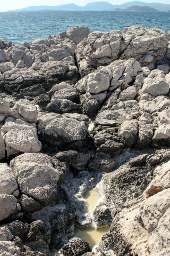
M74 237L80 237L83 240L87 241L91 247L94 247L100 242L101 237L103 237L103 235L106 234L109 227L110 226L98 228L98 229L94 229L91 227L85 227L85 228L75 227Z

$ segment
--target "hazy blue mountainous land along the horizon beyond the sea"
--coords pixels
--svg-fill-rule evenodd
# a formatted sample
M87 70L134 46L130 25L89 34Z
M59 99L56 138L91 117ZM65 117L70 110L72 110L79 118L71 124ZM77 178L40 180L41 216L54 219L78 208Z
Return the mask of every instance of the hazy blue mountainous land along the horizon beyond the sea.
M145 3L133 1L124 4L110 4L108 2L94 2L79 6L76 4L63 4L57 6L28 6L23 9L11 10L10 12L18 11L133 11L133 12L157 12L170 10L170 4L162 3ZM168 11L169 12L169 11Z

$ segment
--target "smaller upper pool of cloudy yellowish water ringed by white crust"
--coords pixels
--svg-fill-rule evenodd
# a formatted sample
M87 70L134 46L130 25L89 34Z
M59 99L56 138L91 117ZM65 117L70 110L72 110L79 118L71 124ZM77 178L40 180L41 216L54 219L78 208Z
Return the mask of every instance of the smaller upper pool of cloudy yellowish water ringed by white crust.
M92 210L94 209L94 205L97 203L99 199L99 194L96 189L92 189L87 191L86 195L84 196L88 203L88 213L92 214Z

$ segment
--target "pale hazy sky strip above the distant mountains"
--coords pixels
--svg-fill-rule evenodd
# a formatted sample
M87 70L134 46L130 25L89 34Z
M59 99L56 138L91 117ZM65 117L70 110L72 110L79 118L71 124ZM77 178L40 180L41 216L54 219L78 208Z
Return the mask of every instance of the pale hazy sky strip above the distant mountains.
M3 1L1 0L0 4L0 11L8 11L8 10L16 10L16 9L21 9L24 7L28 7L30 5L60 5L60 4L70 4L74 3L80 6L84 6L87 3L91 2L109 2L111 4L123 4L126 2L131 2L133 0L7 0ZM164 3L164 4L170 4L170 0L140 0L141 2L145 3Z

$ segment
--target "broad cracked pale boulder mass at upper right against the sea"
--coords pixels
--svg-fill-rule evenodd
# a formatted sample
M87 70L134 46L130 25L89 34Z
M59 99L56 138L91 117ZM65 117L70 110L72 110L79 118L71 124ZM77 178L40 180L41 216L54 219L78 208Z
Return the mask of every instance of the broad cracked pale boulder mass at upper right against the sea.
M164 30L132 26L122 31L92 31L75 50L80 73L85 76L114 60L135 58L142 66L163 60L168 37Z

